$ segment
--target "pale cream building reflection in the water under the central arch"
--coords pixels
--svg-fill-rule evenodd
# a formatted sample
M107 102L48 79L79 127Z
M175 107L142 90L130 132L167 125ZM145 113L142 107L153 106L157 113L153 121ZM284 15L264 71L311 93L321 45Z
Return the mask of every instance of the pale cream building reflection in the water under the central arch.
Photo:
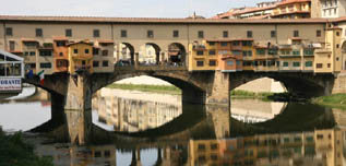
M114 126L115 131L136 132L160 127L182 114L181 103L131 97L102 93L94 98L98 121Z

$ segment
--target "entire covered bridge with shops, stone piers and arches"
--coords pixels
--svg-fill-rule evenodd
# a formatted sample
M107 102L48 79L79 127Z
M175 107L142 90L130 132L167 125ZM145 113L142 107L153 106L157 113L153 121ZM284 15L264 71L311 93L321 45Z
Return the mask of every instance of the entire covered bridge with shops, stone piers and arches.
M230 90L255 79L307 96L346 92L346 17L302 20L0 16L0 49L23 56L24 81L47 90L52 107L91 109L92 95L151 75L182 90L182 100L229 105ZM140 61L140 47L155 63ZM121 59L122 46L129 59ZM115 54L114 54L115 52ZM53 116L52 116L53 117Z

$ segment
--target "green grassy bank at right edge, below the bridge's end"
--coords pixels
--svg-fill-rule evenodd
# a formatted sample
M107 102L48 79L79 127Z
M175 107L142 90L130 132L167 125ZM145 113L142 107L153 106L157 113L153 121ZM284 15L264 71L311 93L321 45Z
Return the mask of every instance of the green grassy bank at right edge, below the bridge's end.
M346 109L346 94L334 94L331 96L321 96L312 98L311 103L327 107Z

